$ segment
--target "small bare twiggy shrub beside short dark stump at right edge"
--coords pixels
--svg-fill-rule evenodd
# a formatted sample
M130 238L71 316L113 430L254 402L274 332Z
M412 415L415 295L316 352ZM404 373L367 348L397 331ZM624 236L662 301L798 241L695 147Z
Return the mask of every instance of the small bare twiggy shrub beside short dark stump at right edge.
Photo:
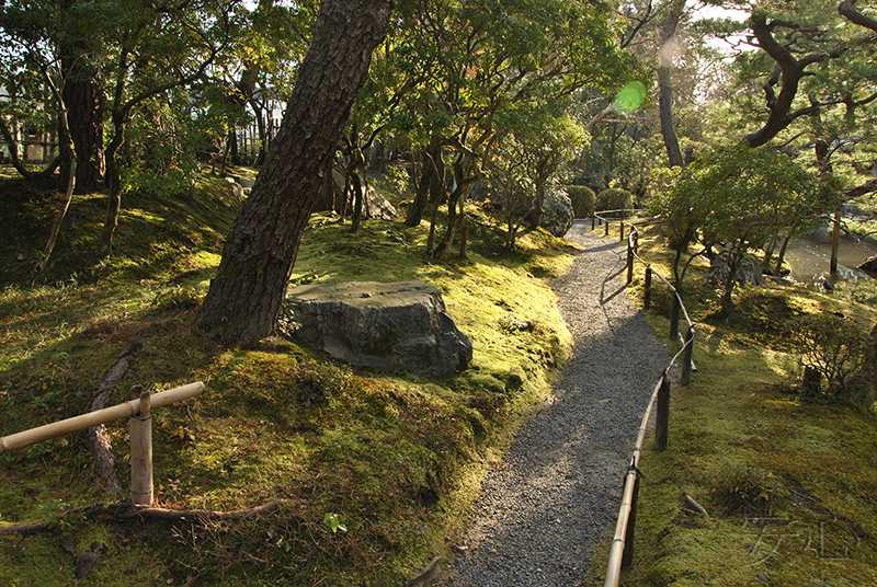
M791 339L800 353L800 364L819 372L824 385L802 385L801 400L856 401L861 396L864 368L868 366L870 337L844 316L805 314L790 323Z

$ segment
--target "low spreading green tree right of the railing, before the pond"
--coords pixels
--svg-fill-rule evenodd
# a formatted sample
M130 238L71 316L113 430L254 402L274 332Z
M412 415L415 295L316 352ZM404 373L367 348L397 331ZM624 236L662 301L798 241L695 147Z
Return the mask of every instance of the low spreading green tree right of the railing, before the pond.
M808 230L838 203L832 181L822 180L785 154L747 143L715 147L685 169L658 170L651 187L651 211L661 215L671 246L676 284L680 262L691 244L696 254L727 253L730 277L721 307L729 313L737 269L753 250Z

